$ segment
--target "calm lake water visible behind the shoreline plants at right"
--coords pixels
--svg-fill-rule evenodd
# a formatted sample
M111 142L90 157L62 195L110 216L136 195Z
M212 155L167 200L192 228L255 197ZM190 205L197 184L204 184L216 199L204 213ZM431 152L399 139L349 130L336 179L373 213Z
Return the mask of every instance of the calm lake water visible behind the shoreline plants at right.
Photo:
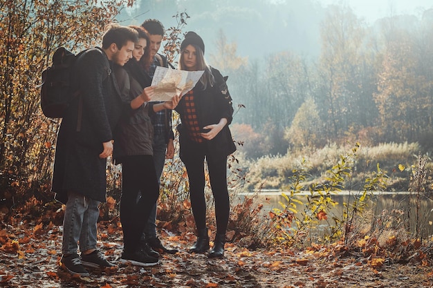
M285 193L290 195L290 193ZM254 194L241 193L244 197ZM268 213L274 208L282 209L279 202L286 203L282 191L261 191L257 194L258 201L264 204L264 213ZM302 195L296 195L295 199L305 202L307 195L310 195L309 191L302 193ZM344 209L343 203L348 201L353 203L354 197L354 193L349 191L332 194L331 198L338 204L329 211L328 218L331 219L333 215L341 218ZM423 236L433 235L433 200L425 197L425 195L418 195L417 197L416 194L408 192L378 192L371 196L368 204L369 208L365 217L375 221L376 225L387 223L389 227L411 227L410 230L414 233L418 222L418 231L422 229ZM298 210L302 208L301 204L297 204Z

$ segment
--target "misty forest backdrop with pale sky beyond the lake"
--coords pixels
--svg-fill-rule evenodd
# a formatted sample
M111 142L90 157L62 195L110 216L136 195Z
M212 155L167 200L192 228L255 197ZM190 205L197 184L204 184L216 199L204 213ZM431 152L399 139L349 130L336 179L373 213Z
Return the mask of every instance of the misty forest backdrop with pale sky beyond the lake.
M347 3L137 1L119 19L176 26L172 15L190 15L185 30L203 35L208 62L229 75L246 191L286 189L304 160L308 180L323 182L356 142L354 177L380 164L388 189L407 191L418 153L432 153L433 10L367 22Z

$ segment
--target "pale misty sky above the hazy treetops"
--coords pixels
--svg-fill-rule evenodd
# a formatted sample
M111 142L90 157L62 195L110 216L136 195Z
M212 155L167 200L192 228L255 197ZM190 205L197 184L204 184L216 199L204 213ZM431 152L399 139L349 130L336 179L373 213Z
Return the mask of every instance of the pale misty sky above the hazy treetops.
M266 2L276 5L266 5ZM245 0L233 0L228 6L219 6L215 0L136 0L133 8L126 9L127 13L120 19L127 19L122 22L127 25L140 25L143 19L156 18L167 28L176 26L173 18L176 12L187 11L191 18L187 19L185 31L193 30L201 35L207 55L215 52L214 44L221 31L228 42L237 44L237 55L262 59L286 50L317 57L320 22L331 4L349 6L368 26L373 26L377 19L397 15L421 19L423 11L433 8L433 0L267 0L252 1L255 4L250 6L245 3Z

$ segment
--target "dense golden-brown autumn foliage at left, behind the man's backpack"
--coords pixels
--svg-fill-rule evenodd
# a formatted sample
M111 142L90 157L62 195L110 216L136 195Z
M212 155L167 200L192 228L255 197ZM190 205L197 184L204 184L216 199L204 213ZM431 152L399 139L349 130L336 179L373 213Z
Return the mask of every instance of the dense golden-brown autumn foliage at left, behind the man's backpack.
M39 108L41 73L58 46L99 44L104 26L131 1L26 1L0 4L0 199L48 190L59 119Z

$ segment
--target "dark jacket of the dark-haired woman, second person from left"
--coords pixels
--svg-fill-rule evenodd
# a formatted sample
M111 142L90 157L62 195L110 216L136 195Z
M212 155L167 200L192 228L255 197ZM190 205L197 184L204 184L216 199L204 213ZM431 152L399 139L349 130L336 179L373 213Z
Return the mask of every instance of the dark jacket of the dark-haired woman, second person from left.
M120 97L125 109L114 137L113 157L116 163L122 163L127 155L153 155L154 126L149 117L149 103L133 110L131 101L150 86L151 79L136 59L129 59L122 66L114 66L114 75L120 89Z

